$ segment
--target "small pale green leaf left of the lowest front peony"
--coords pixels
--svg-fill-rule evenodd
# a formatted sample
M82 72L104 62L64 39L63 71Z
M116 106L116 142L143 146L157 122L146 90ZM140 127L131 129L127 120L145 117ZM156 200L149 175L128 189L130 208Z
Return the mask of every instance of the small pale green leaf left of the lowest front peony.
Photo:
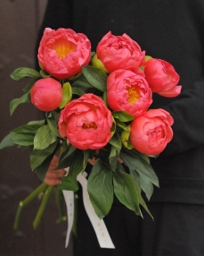
M36 136L34 137L34 149L46 149L56 140L57 136L50 130L49 125L43 125L37 130Z

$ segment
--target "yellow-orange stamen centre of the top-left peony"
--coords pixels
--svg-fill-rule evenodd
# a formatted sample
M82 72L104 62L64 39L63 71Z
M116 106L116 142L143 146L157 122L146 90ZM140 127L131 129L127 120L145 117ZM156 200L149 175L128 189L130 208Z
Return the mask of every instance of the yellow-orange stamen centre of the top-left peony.
M76 45L65 39L59 39L53 44L53 49L58 54L59 59L65 58L69 53L73 53L76 50Z

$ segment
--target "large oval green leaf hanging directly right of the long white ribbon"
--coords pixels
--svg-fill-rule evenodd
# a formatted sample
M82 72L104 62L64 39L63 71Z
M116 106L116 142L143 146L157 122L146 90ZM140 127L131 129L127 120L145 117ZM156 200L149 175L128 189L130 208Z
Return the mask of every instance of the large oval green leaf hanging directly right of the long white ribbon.
M112 171L99 159L93 166L87 185L90 201L98 218L105 217L113 202Z

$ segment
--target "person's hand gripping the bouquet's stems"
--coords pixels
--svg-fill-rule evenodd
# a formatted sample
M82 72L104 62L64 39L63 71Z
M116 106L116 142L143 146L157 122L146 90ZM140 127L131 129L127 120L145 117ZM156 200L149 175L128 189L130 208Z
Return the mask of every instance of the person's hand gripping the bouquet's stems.
M59 158L57 156L53 156L53 160L48 168L48 171L45 175L44 182L48 185L55 186L61 183L61 178L65 175L66 171L64 169L53 170L56 166L58 166Z

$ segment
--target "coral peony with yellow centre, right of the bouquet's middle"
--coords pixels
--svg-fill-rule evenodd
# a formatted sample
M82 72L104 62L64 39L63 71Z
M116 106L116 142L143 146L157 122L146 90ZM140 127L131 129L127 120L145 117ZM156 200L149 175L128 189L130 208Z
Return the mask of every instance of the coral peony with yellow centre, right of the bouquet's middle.
M150 107L151 89L143 76L119 69L107 80L107 99L111 109L126 111L129 115L143 115Z

